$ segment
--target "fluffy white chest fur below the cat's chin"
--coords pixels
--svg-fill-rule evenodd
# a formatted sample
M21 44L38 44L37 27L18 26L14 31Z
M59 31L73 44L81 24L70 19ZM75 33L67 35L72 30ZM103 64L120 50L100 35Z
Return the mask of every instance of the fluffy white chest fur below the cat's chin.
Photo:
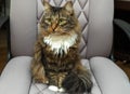
M67 54L69 48L76 43L77 35L50 35L44 37L43 42L51 46L55 55L63 53Z

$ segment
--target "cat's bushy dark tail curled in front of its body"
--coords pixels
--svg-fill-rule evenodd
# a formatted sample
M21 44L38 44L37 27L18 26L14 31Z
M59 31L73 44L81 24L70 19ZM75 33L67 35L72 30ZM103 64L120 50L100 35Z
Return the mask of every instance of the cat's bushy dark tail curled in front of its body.
M63 88L69 94L90 93L92 89L91 75L88 71L70 72L63 81Z

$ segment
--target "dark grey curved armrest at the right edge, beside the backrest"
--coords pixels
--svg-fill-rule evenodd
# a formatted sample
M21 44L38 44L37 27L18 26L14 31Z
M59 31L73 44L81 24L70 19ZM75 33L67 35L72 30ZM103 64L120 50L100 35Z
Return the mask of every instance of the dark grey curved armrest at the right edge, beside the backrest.
M122 29L130 40L130 24L117 18L114 19L114 24L116 24L120 29Z

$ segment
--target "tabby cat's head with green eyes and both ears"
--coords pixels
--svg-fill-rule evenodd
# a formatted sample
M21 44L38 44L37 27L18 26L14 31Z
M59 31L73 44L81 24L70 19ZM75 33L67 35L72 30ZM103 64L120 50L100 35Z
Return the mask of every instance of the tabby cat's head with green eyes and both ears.
M63 6L52 6L48 1L42 0L44 12L40 19L40 32L49 35L72 35L80 33L79 22L73 9L73 2L67 1Z

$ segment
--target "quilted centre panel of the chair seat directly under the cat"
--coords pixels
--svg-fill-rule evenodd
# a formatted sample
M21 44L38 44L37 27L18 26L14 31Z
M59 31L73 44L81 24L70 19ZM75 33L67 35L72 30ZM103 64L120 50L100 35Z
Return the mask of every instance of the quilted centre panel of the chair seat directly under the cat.
M88 59L81 59L81 63L91 72L89 61ZM94 79L93 73L92 73L92 82L93 82L93 88L92 88L91 94L101 94L101 91L98 86L98 83L96 83L96 80ZM48 85L46 85L46 84L34 83L34 82L31 83L30 92L29 92L29 94L55 94L55 93L56 94L63 94L63 93L53 92L53 91L49 90ZM84 94L88 94L88 93L84 93Z

